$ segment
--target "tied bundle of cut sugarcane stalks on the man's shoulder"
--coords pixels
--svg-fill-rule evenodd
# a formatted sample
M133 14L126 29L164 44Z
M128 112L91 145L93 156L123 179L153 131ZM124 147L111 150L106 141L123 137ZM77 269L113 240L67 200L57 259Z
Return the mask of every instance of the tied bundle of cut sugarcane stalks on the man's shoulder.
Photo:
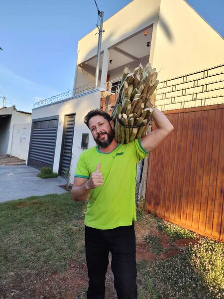
M159 83L156 69L148 63L130 72L123 70L120 89L112 111L114 133L118 143L127 144L145 136L154 113L153 93Z

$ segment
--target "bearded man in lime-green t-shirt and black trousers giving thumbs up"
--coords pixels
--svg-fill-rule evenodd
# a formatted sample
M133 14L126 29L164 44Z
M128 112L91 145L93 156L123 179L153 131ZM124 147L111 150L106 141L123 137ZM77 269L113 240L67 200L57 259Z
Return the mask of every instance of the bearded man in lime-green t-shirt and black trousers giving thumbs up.
M80 155L72 188L74 200L90 195L85 215L87 299L104 299L110 251L117 298L137 299L133 226L137 163L173 130L158 109L153 121L155 131L121 145L114 138L114 123L108 113L92 110L84 119L98 145Z

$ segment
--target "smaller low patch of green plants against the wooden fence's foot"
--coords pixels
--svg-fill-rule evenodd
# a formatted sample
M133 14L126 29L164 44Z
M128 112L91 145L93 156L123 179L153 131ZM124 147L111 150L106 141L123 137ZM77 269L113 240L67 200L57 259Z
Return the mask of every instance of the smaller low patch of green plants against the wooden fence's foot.
M171 241L178 239L196 239L197 234L193 233L179 225L167 222L163 219L158 219L157 227L166 236L171 238Z

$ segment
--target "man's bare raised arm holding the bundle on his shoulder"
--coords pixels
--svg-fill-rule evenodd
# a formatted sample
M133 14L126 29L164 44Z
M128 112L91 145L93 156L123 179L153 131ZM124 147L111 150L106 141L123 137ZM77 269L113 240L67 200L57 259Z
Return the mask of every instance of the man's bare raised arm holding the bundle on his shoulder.
M154 111L152 119L156 125L156 130L140 139L142 148L148 152L156 149L173 131L173 125L157 108Z

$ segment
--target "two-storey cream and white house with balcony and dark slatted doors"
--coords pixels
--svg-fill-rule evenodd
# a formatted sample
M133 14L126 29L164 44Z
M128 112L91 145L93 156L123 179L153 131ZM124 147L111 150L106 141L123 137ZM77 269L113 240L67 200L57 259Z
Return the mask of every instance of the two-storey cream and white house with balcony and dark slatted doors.
M151 62L163 81L220 65L223 60L223 38L185 0L133 0L106 20L103 29L100 88L94 87L95 29L78 42L74 89L38 102L32 110L28 165L47 165L59 174L71 165L73 174L81 151L95 145L83 118L100 107L108 87L115 92L124 66L133 69L140 62L143 66ZM214 101L220 103L221 98Z

